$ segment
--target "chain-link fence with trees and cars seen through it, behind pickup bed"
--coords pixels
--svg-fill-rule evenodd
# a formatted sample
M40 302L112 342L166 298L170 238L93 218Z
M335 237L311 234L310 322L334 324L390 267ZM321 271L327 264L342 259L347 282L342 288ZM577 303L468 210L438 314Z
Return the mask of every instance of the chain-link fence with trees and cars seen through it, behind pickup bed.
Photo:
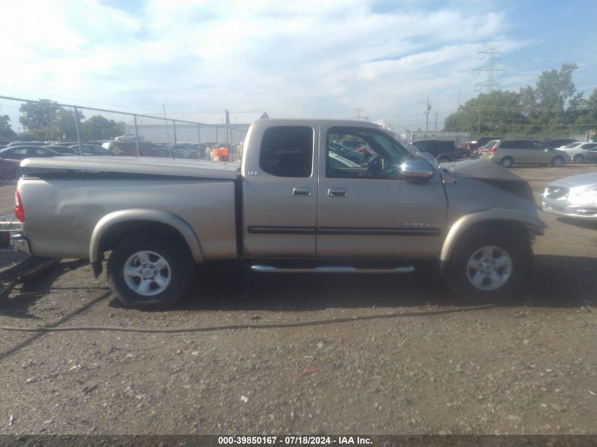
M201 160L227 148L240 157L248 124L205 124L148 114L0 96L0 184L18 179L20 161L69 155Z

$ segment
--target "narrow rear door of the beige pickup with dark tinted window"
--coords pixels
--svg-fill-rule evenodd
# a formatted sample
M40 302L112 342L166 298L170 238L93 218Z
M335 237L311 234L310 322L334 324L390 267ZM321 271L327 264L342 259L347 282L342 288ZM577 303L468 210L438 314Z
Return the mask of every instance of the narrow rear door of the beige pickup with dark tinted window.
M244 255L314 257L317 121L256 121L242 163Z

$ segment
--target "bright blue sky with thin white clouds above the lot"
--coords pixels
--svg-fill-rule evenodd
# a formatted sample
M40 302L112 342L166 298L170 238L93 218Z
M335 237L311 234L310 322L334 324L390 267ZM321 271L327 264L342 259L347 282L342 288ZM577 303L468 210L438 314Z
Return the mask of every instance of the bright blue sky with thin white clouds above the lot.
M565 63L585 96L597 88L594 0L3 1L0 42L0 95L179 118L228 109L414 130L429 97L441 129L478 95L487 45L502 90Z

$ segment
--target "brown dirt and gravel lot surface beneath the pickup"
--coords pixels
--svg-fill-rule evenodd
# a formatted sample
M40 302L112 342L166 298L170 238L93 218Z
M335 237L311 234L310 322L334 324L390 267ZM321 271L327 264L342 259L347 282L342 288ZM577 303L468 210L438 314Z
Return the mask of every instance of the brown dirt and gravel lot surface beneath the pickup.
M537 198L595 170L513 169ZM0 434L597 434L597 225L541 217L535 275L480 310L423 273L222 263L149 313L62 261L0 301L0 325L211 330L0 330Z

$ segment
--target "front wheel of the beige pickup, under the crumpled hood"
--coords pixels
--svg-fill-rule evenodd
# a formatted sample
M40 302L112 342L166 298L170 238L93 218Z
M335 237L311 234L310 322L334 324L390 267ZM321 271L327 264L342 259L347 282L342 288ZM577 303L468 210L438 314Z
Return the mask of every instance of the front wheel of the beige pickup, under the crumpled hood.
M502 230L478 230L466 235L446 270L448 285L467 302L504 302L521 287L529 271L528 241Z

